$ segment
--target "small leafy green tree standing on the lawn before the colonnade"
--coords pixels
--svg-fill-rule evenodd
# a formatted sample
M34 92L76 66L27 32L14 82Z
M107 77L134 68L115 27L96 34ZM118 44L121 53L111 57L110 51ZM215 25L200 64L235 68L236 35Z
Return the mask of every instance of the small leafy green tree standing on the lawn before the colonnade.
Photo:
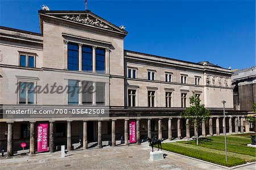
M188 119L190 124L193 123L196 126L196 144L198 145L198 128L203 121L209 117L210 111L205 109L203 104L200 104L201 100L196 96L195 92L192 93L192 96L189 97L190 107L187 107L180 115L181 117Z

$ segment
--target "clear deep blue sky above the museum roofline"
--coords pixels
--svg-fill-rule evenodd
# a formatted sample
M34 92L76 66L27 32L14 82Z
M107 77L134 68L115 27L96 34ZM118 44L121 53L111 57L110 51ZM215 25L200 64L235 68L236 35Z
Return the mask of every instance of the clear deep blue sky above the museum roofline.
M43 4L84 10L84 0L0 0L0 25L39 32ZM126 27L125 49L232 69L255 65L255 0L88 0L88 9Z

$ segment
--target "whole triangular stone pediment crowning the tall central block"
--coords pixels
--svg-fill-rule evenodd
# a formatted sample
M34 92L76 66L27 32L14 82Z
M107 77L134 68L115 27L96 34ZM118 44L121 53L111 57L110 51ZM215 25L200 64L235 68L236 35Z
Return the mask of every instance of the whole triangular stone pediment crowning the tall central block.
M66 20L67 22L73 22L82 24L84 26L96 27L103 30L114 31L121 34L127 34L127 32L114 24L100 18L99 16L91 13L90 11L39 11L41 15L47 15L53 18Z

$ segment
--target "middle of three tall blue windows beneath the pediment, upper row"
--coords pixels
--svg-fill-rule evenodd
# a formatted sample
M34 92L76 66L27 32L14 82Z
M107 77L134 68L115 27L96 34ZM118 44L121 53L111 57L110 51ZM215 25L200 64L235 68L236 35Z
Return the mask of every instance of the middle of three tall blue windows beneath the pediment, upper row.
M92 47L82 46L82 71L92 72Z

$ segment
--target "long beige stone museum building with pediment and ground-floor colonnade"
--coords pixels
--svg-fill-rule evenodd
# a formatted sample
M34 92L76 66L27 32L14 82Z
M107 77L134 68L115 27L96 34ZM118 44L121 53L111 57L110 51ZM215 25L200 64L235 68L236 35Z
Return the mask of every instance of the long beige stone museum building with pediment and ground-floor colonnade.
M26 143L30 154L159 139L191 138L180 117L192 92L210 110L199 135L249 131L246 111L234 110L232 71L128 51L127 32L91 11L39 11L40 34L0 27L0 147L11 156ZM36 86L86 88L95 93L34 93ZM59 89L59 90L60 90ZM75 92L78 92L78 90ZM226 101L226 119L223 104ZM6 117L11 108L108 108L108 117ZM41 129L46 135L39 150ZM245 128L245 130L244 130ZM133 139L131 139L131 136ZM135 138L135 139L134 139ZM47 148L45 148L47 145ZM37 148L37 149L36 149Z

